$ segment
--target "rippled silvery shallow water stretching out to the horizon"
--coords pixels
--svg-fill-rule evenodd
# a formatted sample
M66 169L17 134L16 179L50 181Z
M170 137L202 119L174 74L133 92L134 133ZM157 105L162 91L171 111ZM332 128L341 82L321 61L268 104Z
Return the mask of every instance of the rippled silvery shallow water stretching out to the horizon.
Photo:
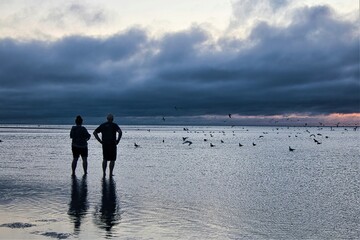
M70 128L0 126L2 238L360 238L359 130L123 126L103 179L94 138L71 177Z

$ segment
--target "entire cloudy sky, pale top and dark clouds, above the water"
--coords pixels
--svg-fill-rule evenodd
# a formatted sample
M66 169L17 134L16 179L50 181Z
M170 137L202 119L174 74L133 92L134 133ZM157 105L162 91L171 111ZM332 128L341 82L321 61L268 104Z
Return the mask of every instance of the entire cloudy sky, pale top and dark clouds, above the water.
M358 25L353 0L0 0L0 123L356 121Z

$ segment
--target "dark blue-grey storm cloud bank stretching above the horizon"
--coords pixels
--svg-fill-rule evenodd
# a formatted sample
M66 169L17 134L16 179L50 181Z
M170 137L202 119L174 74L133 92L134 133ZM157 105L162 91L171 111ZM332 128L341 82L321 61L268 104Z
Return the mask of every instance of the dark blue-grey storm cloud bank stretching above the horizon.
M327 7L214 42L199 27L150 38L0 41L1 119L359 112L356 22ZM178 110L174 108L178 107Z

